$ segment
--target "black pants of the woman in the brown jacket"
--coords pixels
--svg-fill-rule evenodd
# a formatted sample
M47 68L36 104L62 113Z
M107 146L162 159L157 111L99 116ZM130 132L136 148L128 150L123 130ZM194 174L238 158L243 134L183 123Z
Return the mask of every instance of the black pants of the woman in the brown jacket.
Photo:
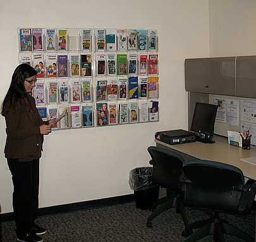
M30 231L39 206L39 159L20 162L7 159L13 179L13 212L16 234Z

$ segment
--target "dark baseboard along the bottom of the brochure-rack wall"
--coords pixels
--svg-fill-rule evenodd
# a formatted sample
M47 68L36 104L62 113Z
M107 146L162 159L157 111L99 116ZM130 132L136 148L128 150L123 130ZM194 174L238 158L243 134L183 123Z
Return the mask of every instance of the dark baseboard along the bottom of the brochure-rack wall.
M64 212L75 212L82 209L95 209L99 207L107 207L111 205L126 204L134 202L134 194L122 195L118 197L109 197L107 199L97 199L85 202L75 202L73 204L56 205L52 207L39 208L39 216L46 216L50 214L61 214ZM14 220L13 212L0 214L0 222Z

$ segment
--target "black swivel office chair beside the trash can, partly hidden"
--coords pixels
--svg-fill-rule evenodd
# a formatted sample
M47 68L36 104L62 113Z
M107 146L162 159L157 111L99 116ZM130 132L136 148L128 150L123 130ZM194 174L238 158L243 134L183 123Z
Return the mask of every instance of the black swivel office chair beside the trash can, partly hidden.
M162 212L176 208L176 212L180 212L185 224L185 234L189 235L188 219L183 205L183 192L181 190L182 183L180 176L182 175L182 166L184 159L172 151L161 149L159 147L150 146L148 149L152 158L150 164L153 166L152 181L168 189L168 195L157 200L153 204L154 212L147 218L147 227L152 227L152 220ZM172 193L169 192L172 191ZM192 233L192 232L191 232Z

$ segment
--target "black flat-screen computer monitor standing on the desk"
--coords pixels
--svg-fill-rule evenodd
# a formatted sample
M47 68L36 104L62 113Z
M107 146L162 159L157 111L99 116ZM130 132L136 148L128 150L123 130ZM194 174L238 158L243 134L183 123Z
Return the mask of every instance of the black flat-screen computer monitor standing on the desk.
M209 103L195 103L190 130L196 132L198 141L213 143L212 135L214 134L214 123L217 113L217 105Z

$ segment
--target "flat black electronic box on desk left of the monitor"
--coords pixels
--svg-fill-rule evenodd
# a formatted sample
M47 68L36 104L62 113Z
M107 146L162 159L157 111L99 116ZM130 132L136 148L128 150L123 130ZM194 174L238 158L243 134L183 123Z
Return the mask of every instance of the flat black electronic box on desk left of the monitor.
M167 144L182 144L197 141L194 133L183 129L156 132L155 139Z

